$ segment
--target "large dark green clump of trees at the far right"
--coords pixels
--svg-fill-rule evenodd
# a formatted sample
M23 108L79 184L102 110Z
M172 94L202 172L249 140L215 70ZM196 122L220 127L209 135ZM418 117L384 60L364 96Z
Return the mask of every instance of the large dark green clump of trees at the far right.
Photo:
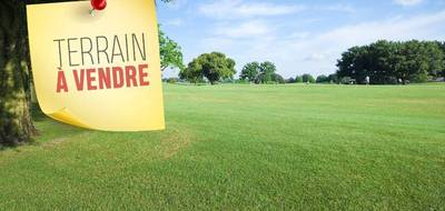
M445 69L442 42L390 42L379 40L363 47L353 47L337 61L339 78L364 83L396 83L402 80L425 82L428 77L439 77Z

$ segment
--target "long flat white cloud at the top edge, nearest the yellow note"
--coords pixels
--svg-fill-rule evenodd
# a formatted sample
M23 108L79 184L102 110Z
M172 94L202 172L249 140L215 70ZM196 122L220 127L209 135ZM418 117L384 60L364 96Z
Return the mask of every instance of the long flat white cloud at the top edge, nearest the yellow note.
M301 6L275 4L266 2L244 2L243 0L221 0L199 6L198 10L210 18L239 19L270 17L295 13L304 10Z

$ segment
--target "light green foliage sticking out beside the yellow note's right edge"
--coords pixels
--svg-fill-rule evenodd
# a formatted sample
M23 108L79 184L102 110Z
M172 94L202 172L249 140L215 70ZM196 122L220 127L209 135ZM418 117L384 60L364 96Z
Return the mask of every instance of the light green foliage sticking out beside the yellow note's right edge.
M159 53L160 68L164 71L167 68L178 68L184 70L186 67L182 61L180 46L164 33L159 26Z

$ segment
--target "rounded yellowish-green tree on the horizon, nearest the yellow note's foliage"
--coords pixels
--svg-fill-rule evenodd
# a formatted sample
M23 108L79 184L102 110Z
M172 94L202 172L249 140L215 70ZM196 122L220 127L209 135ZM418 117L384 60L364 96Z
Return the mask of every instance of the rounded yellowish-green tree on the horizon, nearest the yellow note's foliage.
M211 84L215 84L220 79L231 79L236 73L235 64L235 60L221 52L204 53L194 59L179 76L190 82L206 77Z

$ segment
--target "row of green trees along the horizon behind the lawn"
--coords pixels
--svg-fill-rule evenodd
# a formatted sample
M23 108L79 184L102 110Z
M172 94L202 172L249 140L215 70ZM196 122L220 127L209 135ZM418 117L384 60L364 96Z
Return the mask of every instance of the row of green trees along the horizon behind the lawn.
M230 61L230 62L227 62ZM377 42L353 47L342 53L337 60L338 70L329 76L320 74L316 79L305 73L284 79L277 73L271 61L246 63L235 80L235 60L221 52L204 53L194 59L187 68L180 69L179 80L191 83L238 82L238 83L370 83L395 84L426 82L445 77L445 42L417 41ZM369 79L367 81L366 79Z

